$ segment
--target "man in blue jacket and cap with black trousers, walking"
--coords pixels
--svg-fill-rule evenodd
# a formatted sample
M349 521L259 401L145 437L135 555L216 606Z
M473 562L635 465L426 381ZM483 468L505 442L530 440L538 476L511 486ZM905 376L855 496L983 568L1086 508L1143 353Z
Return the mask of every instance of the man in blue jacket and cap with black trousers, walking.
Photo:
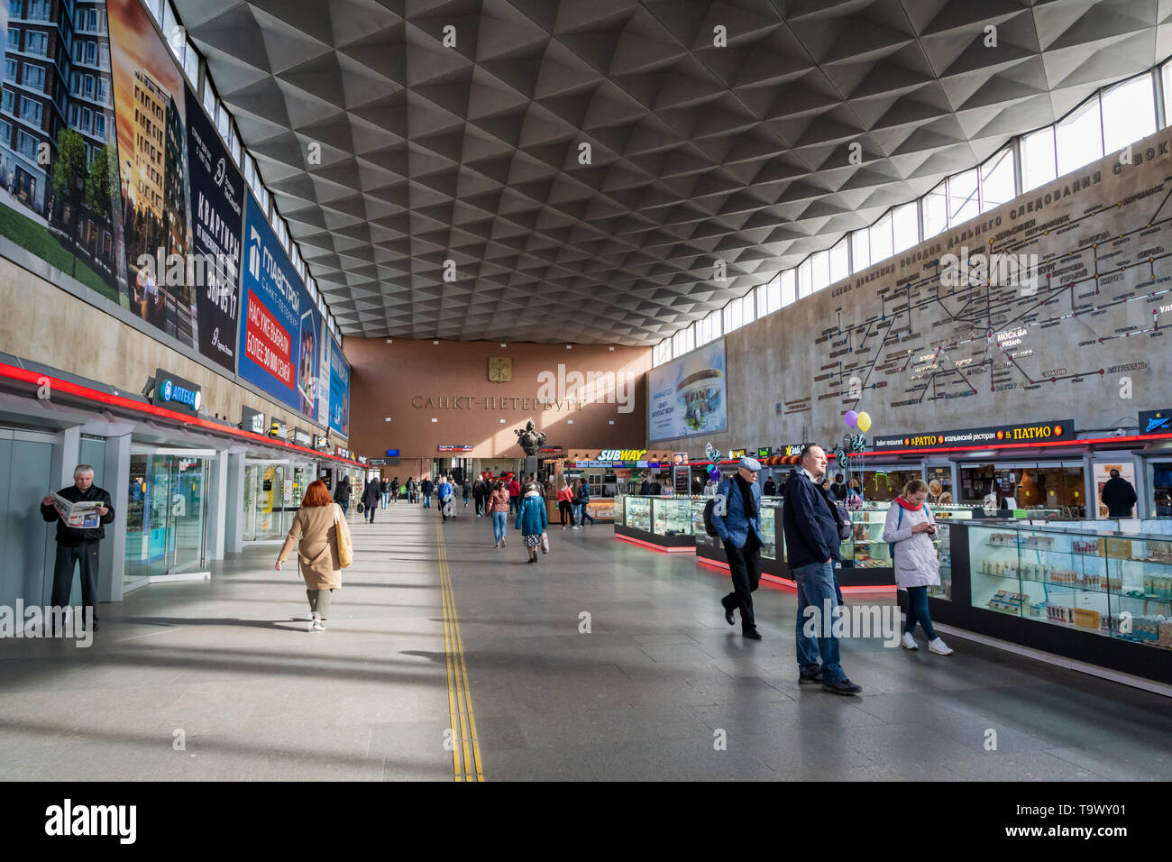
M743 457L736 475L716 488L713 527L724 543L724 556L732 576L732 592L721 599L724 619L736 623L732 612L741 609L741 634L761 640L757 622L752 616L752 591L761 585L761 487L755 459ZM723 503L723 504L722 504Z

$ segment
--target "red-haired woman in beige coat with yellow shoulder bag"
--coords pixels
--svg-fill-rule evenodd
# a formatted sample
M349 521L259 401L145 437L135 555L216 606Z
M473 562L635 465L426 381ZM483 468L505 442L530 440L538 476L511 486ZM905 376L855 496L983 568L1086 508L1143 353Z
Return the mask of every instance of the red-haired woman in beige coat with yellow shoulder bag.
M338 556L338 530L350 542L350 528L341 508L334 504L321 480L311 482L293 516L293 527L277 557L281 570L297 545L305 591L309 596L309 631L325 631L331 593L342 585L342 564Z

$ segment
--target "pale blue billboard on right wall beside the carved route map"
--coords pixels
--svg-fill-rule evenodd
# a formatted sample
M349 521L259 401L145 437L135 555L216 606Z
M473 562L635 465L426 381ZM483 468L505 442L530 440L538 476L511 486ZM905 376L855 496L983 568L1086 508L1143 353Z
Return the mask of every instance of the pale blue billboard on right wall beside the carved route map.
M724 339L647 372L647 439L728 430Z

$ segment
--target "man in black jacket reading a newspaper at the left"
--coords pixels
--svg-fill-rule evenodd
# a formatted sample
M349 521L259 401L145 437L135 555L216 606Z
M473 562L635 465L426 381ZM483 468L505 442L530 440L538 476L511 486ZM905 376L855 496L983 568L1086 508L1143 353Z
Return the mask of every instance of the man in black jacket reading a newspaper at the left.
M57 558L53 566L53 608L66 608L73 592L74 565L81 575L82 613L88 612L93 631L97 631L97 543L105 538L105 524L114 522L114 503L109 493L94 484L94 468L77 464L74 483L62 488L57 495L70 503L101 503L94 516L81 527L66 523L56 497L52 494L41 501L41 517L46 523L57 522Z

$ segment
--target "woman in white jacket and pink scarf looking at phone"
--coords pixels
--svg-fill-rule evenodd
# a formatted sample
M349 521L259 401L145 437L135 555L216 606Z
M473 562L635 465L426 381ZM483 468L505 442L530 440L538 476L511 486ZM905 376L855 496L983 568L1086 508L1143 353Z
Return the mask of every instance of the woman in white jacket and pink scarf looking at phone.
M940 563L932 537L936 532L932 513L924 501L928 497L928 486L919 478L913 478L904 486L904 494L887 510L887 523L884 525L884 542L895 545L894 566L895 585L907 590L907 623L904 625L902 646L905 650L919 650L912 632L915 624L924 626L928 636L928 651L941 656L952 654L952 650L941 640L932 627L928 615L928 586L940 583Z

